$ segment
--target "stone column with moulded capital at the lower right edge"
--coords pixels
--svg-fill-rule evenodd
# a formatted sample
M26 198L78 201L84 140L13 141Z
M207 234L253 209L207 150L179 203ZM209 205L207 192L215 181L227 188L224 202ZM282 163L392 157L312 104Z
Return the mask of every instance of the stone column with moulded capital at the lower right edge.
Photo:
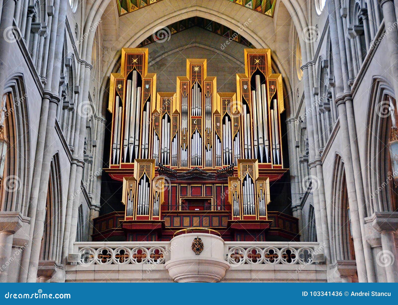
M383 10L384 11L384 10ZM398 259L395 234L398 231L398 212L375 212L370 217L373 227L380 233L382 254L377 264L386 268L387 282L398 282Z

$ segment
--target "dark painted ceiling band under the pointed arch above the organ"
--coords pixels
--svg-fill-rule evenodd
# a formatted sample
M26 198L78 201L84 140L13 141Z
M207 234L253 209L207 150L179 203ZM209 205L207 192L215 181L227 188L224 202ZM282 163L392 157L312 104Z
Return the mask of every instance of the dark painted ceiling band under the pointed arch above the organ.
M163 27L162 29L158 29L153 35L150 35L144 41L142 41L137 48L144 47L153 43L155 41L163 42L170 39L170 35L181 32L185 29L189 29L191 27L201 27L207 31L213 32L215 34L221 35L228 40L233 40L237 43L244 45L245 47L254 48L254 46L242 35L233 31L229 27L222 25L218 22L214 22L209 19L201 18L201 17L191 17L179 22L172 23L167 27Z

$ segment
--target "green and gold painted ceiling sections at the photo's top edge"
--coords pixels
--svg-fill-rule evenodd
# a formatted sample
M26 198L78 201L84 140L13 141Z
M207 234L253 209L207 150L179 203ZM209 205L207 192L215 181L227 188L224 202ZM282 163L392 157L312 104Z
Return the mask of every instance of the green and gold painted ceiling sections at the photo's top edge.
M116 0L117 8L119 9L119 16L127 13L134 12L140 8L144 8L150 4L160 2L162 0ZM227 0L225 0L225 6L227 6ZM228 0L241 6L244 6L250 10L254 10L261 14L273 17L276 0Z

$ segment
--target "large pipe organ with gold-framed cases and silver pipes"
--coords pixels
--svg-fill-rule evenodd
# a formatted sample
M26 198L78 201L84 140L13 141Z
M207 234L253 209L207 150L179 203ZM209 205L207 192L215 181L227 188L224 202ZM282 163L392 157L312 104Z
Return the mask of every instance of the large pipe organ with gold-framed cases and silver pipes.
M288 170L282 78L272 73L269 49L246 49L244 57L236 93L217 92L206 59L187 59L176 92L156 92L148 49L122 49L120 73L110 79L105 171L123 181L130 240L167 240L199 225L221 230L226 240L250 240L245 230L265 240L269 182ZM139 237L145 230L157 233Z

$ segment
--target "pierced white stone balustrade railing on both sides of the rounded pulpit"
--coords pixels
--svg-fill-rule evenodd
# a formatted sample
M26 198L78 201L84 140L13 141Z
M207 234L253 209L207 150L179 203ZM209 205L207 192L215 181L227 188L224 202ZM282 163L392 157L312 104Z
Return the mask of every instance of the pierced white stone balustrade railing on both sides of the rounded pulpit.
M224 257L231 266L242 264L313 264L322 253L317 242L224 242ZM170 242L76 242L79 265L164 264Z

